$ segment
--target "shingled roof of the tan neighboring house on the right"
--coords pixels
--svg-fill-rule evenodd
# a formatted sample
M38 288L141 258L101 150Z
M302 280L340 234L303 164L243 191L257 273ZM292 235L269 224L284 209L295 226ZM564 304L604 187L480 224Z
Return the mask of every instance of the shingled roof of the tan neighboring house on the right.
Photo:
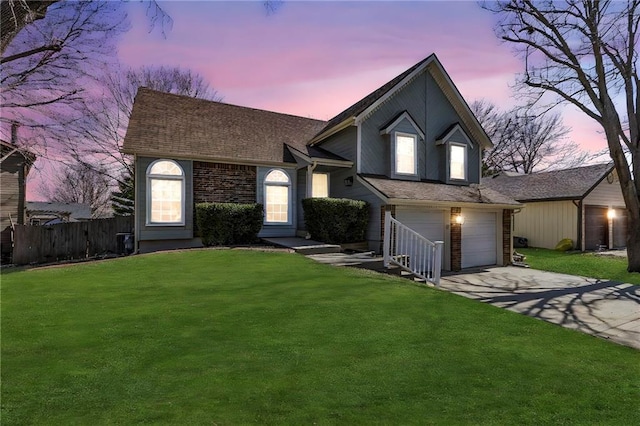
M613 164L596 164L529 175L500 174L482 184L518 201L580 200L611 171Z

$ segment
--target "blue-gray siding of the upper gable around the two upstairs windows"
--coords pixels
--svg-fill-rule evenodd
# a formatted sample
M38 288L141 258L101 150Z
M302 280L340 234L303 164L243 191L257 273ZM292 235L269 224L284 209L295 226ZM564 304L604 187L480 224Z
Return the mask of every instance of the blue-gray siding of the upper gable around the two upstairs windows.
M419 178L444 182L443 178L446 177L444 169L447 164L446 147L437 146L435 141L452 124L462 123L462 120L428 73L416 77L361 123L361 172L390 176L391 140L389 135L380 135L380 130L390 119L403 111L411 115L425 134L424 141L418 140ZM397 131L415 133L406 120L396 127ZM469 147L467 155L468 183L478 183L480 181L479 143L473 141L473 148Z

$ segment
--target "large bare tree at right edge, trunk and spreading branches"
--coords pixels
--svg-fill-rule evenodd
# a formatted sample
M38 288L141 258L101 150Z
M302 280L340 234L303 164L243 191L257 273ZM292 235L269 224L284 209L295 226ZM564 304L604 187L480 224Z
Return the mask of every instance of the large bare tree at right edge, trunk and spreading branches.
M629 271L640 271L640 0L483 3L523 59L519 87L571 103L597 121L629 215ZM629 160L631 160L631 164Z

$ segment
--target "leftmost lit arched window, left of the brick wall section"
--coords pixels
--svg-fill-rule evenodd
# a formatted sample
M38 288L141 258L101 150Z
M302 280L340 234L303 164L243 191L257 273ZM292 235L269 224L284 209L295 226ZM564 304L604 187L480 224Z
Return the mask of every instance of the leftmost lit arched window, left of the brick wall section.
M184 171L173 160L147 168L147 225L184 225Z

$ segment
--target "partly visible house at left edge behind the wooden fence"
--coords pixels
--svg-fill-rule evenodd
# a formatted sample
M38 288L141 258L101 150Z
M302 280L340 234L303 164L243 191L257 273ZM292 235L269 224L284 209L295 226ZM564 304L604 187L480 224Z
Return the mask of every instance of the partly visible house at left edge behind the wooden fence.
M36 157L0 140L0 158L0 251L6 258L11 253L11 225L25 222L27 175Z

